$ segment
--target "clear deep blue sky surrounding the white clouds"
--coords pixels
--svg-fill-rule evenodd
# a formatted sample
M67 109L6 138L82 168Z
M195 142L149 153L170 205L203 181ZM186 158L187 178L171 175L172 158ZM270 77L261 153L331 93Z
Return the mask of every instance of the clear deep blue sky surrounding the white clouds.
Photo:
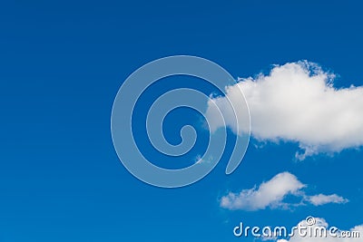
M230 176L224 157L205 179L161 189L124 169L110 131L123 81L143 64L174 54L210 59L236 78L308 60L338 74L337 88L361 86L361 8L358 1L1 3L0 241L237 241L231 231L240 221L294 226L309 215L342 229L361 225L360 149L297 161L296 142L256 148L252 139ZM211 92L182 79L155 84L145 102L179 85ZM201 133L195 150L179 160L182 166L205 148L200 122L183 110L165 121L171 142L179 141L175 131L184 123ZM174 168L142 133L137 137L155 163ZM349 202L221 208L229 191L251 189L283 171L307 184L309 195L338 194Z

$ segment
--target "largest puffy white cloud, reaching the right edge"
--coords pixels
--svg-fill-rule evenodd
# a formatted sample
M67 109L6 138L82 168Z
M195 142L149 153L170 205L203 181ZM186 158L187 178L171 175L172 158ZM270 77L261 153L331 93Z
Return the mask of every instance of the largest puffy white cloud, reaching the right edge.
M215 102L232 131L248 131L242 122L243 111L237 110L236 127L232 106L238 103L239 89L250 107L251 134L257 140L287 140L299 143L304 152L302 160L319 152L337 152L363 145L363 87L336 89L335 76L314 63L298 62L275 66L269 74L239 79L227 87L227 94ZM218 120L215 106L209 103L206 116L211 130L223 121Z

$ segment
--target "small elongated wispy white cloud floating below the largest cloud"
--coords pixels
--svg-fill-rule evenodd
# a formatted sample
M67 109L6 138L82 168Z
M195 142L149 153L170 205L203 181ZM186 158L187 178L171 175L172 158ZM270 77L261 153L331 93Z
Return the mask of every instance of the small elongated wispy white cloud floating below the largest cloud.
M290 206L301 206L306 203L319 206L327 203L348 202L348 199L339 197L336 194L308 196L303 190L306 187L291 173L282 172L253 189L243 189L239 193L230 192L221 198L220 206L231 210L259 210L265 208L289 208ZM283 200L288 195L300 198L301 201L298 204L286 203Z

